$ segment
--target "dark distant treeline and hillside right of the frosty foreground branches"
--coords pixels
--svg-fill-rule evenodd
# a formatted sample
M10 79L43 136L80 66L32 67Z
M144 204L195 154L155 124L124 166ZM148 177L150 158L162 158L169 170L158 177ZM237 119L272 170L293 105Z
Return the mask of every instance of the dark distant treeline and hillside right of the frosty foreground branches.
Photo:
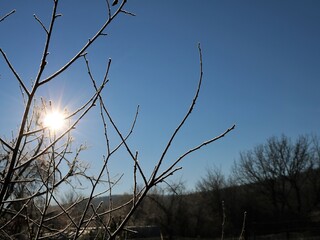
M239 237L246 212L247 236L320 235L318 143L314 136L272 137L241 153L229 178L212 168L193 192L183 183L154 189L128 224L160 226L168 238Z

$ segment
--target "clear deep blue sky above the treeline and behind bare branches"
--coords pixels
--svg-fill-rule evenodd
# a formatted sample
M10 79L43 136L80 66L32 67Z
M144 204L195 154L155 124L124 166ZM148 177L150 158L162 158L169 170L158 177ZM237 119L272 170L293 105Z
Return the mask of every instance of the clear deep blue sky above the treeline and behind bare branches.
M30 87L38 71L45 33L33 14L49 24L52 1L0 1L0 47ZM137 105L136 127L128 143L139 152L147 175L188 110L199 80L198 43L203 53L203 85L194 112L177 135L164 167L188 149L221 134L179 164L170 181L192 190L217 167L226 174L242 151L285 134L319 135L320 2L317 0L216 1L128 0L125 9L90 47L88 59L101 81L109 58L106 104L118 127L129 130ZM114 11L115 8L112 8ZM68 61L106 20L106 2L61 1L44 77ZM0 135L16 131L22 101L18 84L0 58ZM92 94L82 59L44 87L44 97L72 111ZM93 110L74 131L75 145L85 143L81 158L95 174L105 154L103 129ZM113 144L119 142L110 135ZM119 151L110 171L124 173L115 192L132 189L133 163Z

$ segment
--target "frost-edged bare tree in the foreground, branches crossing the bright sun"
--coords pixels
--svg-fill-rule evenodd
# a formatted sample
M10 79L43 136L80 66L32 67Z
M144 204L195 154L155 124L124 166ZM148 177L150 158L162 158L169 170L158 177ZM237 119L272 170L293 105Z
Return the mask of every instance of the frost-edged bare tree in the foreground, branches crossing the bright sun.
M191 105L181 122L173 131L159 159L154 162L154 170L147 176L139 163L138 151L133 151L128 143L131 137L138 116L132 121L132 126L128 132L122 132L114 121L108 106L103 97L103 90L109 81L108 74L111 67L111 60L106 64L106 70L102 80L98 81L93 77L90 62L87 59L87 50L96 40L105 35L104 31L111 22L121 15L134 16L133 13L125 10L126 0L122 2L114 1L112 5L106 1L106 20L99 30L89 38L69 60L61 63L62 67L53 71L49 75L44 75L48 69L48 55L54 35L53 29L56 22L62 19L58 12L59 0L53 1L53 8L49 25L34 15L35 21L40 25L45 35L43 52L39 60L39 69L29 87L23 76L19 74L12 62L12 56L7 56L5 49L0 48L0 53L7 68L11 71L19 84L24 111L21 116L19 129L13 134L11 139L0 137L0 236L1 239L43 239L43 238L66 238L79 239L93 234L95 237L114 239L124 229L137 207L146 197L147 193L154 186L164 182L181 168L178 164L189 154L200 148L215 142L224 137L234 129L231 126L221 135L200 143L182 153L177 159L170 162L168 167L163 163L168 150L172 147L173 140L185 125L187 119L193 111L198 99L202 84L202 54L200 45L199 62L200 74L198 87ZM1 24L14 17L15 10L3 15L0 18ZM84 59L84 67L88 72L88 83L92 86L92 94L88 99L79 103L77 109L64 110L60 112L62 119L67 126L63 131L57 131L50 127L47 117L49 114L57 114L56 106L50 99L41 99L38 92L47 85L52 84L62 73L69 70L75 62ZM102 157L104 162L99 172L92 176L88 173L88 165L80 161L79 155L85 150L84 145L73 146L72 133L75 127L81 122L92 109L98 106L101 125L104 129L106 142L106 155ZM5 111L5 110L4 110ZM110 144L109 131L113 129L119 142ZM125 149L133 162L133 192L130 199L120 205L114 205L112 200L108 203L108 208L103 208L104 203L93 204L93 200L103 194L109 194L112 199L112 188L117 184L118 179L111 181L109 173L109 163L114 154L119 149ZM67 170L64 170L67 169ZM121 178L121 176L120 176ZM74 181L88 182L90 191L87 197L77 198L73 203L64 204L59 197L59 188L69 185L74 188ZM138 188L138 180L142 179L142 187ZM98 191L98 186L103 186L102 191ZM73 199L74 200L74 199ZM74 211L80 208L81 212ZM126 210L126 211L124 211ZM114 220L113 216L118 211L124 211L121 221L111 228ZM76 215L75 215L76 212Z

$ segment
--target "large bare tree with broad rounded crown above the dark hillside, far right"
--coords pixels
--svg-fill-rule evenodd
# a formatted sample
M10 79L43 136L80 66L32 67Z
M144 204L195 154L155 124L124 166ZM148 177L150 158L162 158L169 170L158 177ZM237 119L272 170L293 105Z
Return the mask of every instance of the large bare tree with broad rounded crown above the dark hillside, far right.
M244 184L257 184L272 203L275 214L286 209L301 211L302 186L313 168L310 141L300 136L292 143L286 136L272 137L266 144L240 154L235 174Z

